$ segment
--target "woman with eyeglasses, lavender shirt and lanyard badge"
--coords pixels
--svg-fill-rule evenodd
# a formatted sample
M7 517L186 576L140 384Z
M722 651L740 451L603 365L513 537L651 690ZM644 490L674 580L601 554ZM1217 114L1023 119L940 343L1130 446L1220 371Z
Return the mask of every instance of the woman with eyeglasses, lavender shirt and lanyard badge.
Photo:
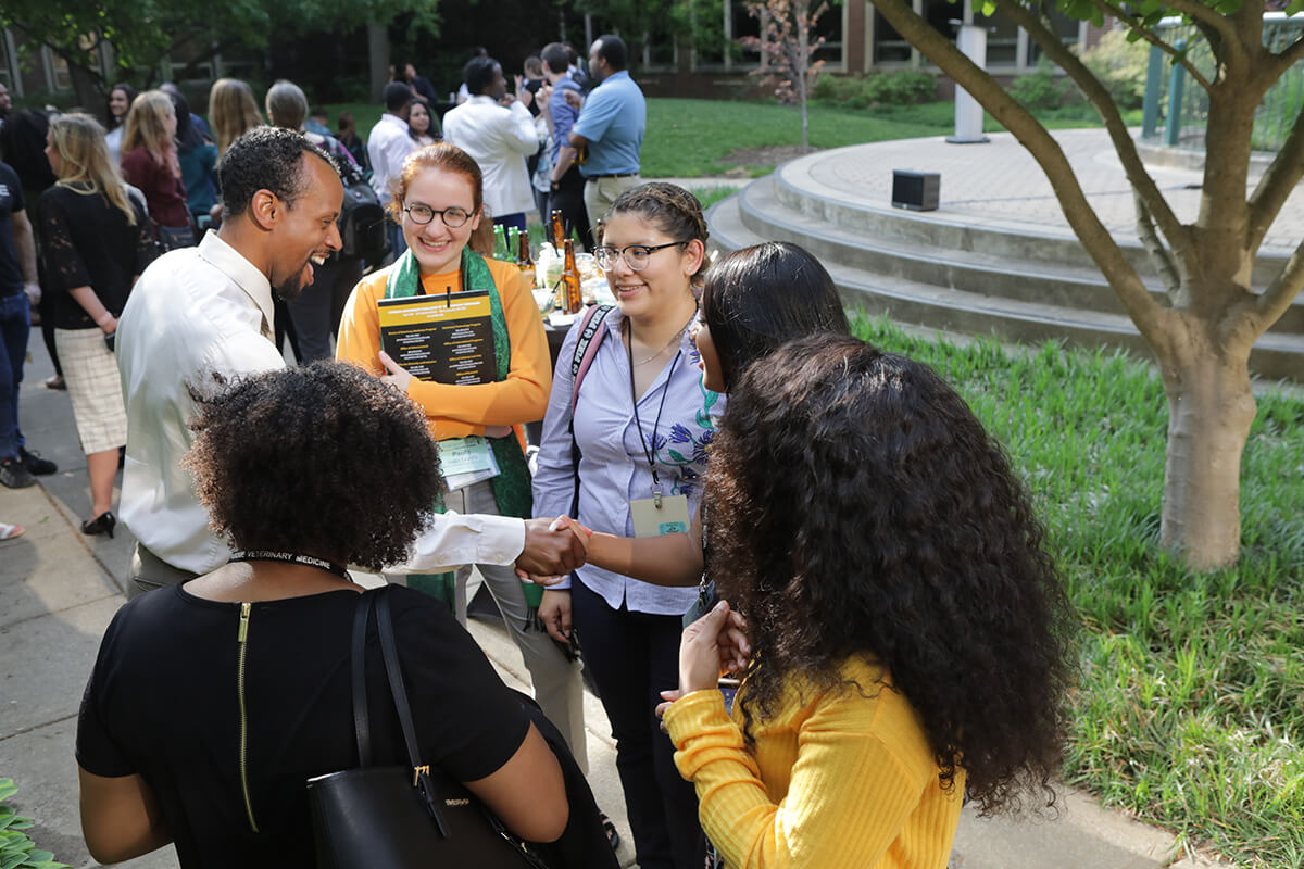
M724 409L724 399L702 384L690 335L705 242L702 205L683 188L644 184L612 205L593 255L617 306L599 327L601 343L574 400L583 321L562 345L535 472L536 516L565 513L619 537L689 529ZM563 636L574 627L612 720L644 869L696 869L703 860L698 800L652 714L657 692L678 680L681 618L695 599L692 588L585 565L549 586L540 607Z

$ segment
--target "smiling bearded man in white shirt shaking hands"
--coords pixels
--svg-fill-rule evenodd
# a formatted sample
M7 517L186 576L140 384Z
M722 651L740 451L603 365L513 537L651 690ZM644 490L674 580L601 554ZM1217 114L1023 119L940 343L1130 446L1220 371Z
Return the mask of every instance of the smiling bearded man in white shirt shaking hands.
M230 558L180 464L193 440L189 387L202 390L215 374L284 366L273 343L273 287L282 297L296 296L340 246L343 185L329 158L299 133L256 128L232 143L218 173L222 228L146 268L119 321L128 421L120 512L137 538L130 595L184 582ZM523 567L537 556L554 562L540 573L572 569L583 547L570 533L546 528L546 520L527 528L501 517L442 517L417 542L408 568L511 564L528 537L537 548Z

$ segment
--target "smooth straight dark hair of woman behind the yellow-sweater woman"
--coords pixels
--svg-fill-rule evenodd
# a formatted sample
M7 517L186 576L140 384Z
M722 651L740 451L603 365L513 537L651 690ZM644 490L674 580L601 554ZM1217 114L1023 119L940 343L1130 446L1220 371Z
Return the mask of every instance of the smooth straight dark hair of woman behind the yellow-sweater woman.
M743 248L711 266L702 279L702 319L711 327L725 390L784 341L852 331L828 271L786 241Z

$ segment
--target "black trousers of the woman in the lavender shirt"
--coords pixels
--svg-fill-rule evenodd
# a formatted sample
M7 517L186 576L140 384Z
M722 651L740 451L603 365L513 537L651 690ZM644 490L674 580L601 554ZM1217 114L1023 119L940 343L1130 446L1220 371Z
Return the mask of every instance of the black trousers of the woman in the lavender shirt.
M656 718L660 692L679 684L681 616L613 610L572 575L571 619L612 722L639 866L700 869L698 795L675 769L674 744Z

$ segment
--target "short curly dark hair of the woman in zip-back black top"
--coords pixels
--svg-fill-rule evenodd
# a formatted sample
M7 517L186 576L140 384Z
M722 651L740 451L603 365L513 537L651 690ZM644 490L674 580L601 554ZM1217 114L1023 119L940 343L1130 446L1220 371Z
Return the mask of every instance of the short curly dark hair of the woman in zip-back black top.
M344 362L192 387L185 464L209 524L237 550L299 552L379 571L443 491L425 414Z

